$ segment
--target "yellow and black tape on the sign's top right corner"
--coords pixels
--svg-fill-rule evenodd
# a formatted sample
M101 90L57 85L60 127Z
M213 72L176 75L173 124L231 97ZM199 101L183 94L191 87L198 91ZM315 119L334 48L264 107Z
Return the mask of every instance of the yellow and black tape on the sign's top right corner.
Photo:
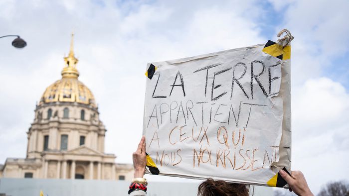
M262 51L281 60L287 60L291 58L290 45L282 46L270 40L268 40L268 42L265 44Z

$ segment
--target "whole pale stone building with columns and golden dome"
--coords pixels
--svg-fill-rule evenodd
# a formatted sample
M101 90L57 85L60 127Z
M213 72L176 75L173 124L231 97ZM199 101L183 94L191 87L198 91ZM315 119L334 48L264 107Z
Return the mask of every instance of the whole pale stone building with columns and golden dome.
M104 153L106 129L92 92L78 80L78 59L64 58L62 78L46 88L27 132L26 158L7 158L0 178L131 180L133 166Z

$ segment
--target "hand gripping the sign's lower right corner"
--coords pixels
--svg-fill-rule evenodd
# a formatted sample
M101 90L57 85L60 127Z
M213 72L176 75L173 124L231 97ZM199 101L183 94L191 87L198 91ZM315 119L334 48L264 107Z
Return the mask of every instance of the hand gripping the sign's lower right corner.
M291 176L288 175L284 170L279 171L281 177L290 186L290 191L294 192L298 196L314 196L310 191L307 181L304 178L304 175L301 171L292 171Z

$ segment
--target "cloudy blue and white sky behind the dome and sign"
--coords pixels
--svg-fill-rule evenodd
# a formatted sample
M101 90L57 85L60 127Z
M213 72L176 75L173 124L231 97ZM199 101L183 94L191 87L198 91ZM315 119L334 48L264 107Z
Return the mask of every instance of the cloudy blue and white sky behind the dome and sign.
M0 36L27 41L16 49L0 39L0 164L25 157L35 103L61 78L72 31L79 80L108 130L105 151L132 163L148 62L276 41L287 28L292 170L314 193L349 180L348 8L348 0L0 0Z

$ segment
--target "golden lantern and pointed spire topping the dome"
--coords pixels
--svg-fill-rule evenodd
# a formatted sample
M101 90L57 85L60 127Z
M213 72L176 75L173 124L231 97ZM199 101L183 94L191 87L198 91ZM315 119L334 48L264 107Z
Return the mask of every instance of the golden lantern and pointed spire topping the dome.
M74 55L74 33L71 33L70 50L67 57L64 57L66 67L63 68L62 78L78 78L79 72L76 69L78 59Z

